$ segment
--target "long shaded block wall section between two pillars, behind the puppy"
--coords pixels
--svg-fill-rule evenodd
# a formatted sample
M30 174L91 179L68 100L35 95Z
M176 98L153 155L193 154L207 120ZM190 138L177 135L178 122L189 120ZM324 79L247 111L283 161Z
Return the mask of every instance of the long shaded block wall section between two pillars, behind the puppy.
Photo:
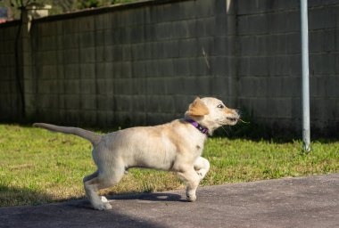
M235 104L225 2L164 2L36 20L28 109L43 121L113 126L183 117L196 95Z

